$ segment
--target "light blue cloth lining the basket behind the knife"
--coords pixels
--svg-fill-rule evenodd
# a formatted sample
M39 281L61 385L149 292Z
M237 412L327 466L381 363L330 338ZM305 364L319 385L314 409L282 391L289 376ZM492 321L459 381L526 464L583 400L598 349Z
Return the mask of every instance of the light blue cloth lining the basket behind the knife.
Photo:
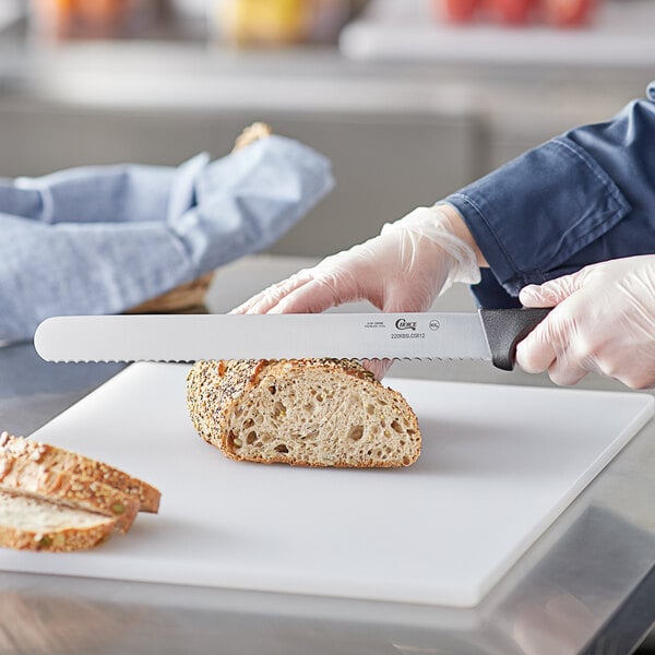
M4 182L0 341L31 338L50 315L119 313L262 250L332 187L325 157L281 136L178 168Z

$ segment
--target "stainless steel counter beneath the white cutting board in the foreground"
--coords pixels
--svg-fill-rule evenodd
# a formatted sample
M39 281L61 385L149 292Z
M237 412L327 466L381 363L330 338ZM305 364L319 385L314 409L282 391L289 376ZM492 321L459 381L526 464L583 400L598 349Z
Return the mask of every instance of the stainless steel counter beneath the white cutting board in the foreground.
M225 311L311 261L241 260L218 272L207 305ZM465 289L453 289L439 307L469 303ZM0 348L0 427L28 434L120 368L47 364L31 344ZM487 365L403 365L393 373L549 384ZM621 389L599 379L583 385ZM0 573L0 652L630 653L655 623L653 472L651 422L475 609Z

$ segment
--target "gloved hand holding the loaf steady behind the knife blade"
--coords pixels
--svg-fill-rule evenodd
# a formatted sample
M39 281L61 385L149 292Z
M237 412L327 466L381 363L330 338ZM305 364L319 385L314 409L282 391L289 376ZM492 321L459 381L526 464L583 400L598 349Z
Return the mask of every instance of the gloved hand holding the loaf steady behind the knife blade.
M378 237L299 271L234 311L315 313L362 299L382 311L426 311L452 283L479 282L476 252L455 236L449 210L418 207L384 225ZM389 362L367 366L380 378Z

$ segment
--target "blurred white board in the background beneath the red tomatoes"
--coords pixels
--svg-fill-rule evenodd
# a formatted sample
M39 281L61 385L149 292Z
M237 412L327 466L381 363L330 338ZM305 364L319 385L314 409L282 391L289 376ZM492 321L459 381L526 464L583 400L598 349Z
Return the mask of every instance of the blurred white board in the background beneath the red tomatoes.
M623 68L643 72L646 80L655 68L654 0L596 0L588 24L580 28L547 24L544 16L505 26L481 13L471 23L453 25L440 13L442 7L440 0L371 0L342 31L340 49L348 59L368 62L584 67L598 74ZM551 20L565 23L576 16Z

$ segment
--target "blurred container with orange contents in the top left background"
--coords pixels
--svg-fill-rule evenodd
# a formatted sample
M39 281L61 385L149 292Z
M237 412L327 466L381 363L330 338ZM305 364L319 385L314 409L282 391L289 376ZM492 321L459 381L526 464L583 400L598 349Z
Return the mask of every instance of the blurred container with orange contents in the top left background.
M135 37L159 9L159 0L29 0L29 26L43 38Z

